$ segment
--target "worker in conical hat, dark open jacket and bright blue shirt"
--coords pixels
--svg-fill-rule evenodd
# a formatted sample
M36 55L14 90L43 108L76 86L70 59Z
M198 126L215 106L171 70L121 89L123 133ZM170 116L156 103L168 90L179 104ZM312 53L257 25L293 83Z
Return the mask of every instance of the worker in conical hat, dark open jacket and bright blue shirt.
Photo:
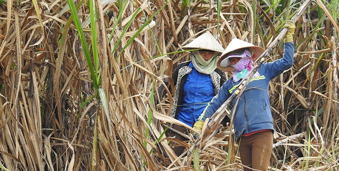
M195 51L191 51L190 61L178 64L172 73L175 94L170 116L191 127L226 81L225 73L216 67L218 56L224 48L210 32L206 32L183 49ZM164 86L158 88L160 97L162 97L163 89ZM171 126L174 130L186 135L189 133L184 126L175 124ZM175 131L169 132L168 137L175 137L182 141L188 140ZM170 145L175 144L170 142ZM177 156L181 155L184 150L183 146L173 147Z

